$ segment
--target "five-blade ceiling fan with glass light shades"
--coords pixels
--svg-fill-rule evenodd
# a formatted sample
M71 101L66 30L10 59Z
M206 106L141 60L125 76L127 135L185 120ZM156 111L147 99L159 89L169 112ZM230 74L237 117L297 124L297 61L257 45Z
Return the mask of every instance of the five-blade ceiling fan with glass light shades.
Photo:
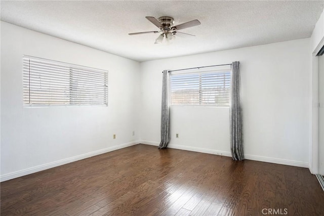
M174 19L172 17L160 17L155 19L154 17L145 17L151 23L153 23L156 27L158 27L159 31L144 31L144 32L136 32L136 33L129 33L129 35L136 35L136 34L146 34L146 33L160 33L161 34L156 38L154 44L162 44L162 42L166 42L169 44L173 39L176 38L175 35L178 36L195 36L193 34L187 34L183 32L179 32L178 30L189 28L192 26L200 25L199 20L192 20L189 22L185 22L176 26L173 26Z

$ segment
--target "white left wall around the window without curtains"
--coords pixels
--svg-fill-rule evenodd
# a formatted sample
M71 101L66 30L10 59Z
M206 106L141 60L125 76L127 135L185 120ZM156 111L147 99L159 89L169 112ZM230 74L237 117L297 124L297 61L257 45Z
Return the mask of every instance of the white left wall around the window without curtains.
M108 70L108 107L23 107L23 55ZM1 62L2 181L140 140L138 62L6 22Z

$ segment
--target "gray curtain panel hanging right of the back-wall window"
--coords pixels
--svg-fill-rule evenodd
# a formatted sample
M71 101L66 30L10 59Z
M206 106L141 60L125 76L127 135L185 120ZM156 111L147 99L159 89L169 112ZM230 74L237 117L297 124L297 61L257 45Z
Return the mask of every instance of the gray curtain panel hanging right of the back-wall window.
M233 160L244 160L242 141L242 117L240 107L239 62L232 63L231 106L230 106L230 143Z

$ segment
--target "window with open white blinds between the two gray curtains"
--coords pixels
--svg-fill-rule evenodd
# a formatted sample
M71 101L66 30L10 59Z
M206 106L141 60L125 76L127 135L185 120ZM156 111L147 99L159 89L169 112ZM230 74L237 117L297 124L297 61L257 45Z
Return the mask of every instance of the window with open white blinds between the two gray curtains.
M171 74L171 105L229 106L230 79L230 70Z

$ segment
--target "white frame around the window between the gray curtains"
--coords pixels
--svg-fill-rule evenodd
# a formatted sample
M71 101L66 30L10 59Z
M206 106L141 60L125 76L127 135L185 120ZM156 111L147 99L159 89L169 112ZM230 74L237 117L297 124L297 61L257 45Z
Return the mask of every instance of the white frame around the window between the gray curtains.
M205 105L205 104L172 104L172 87L171 87L171 77L173 75L181 75L181 74L207 74L207 73L224 73L224 72L229 72L230 75L230 87L231 88L231 81L232 81L232 73L231 73L231 65L229 67L224 67L224 66L216 66L218 69L207 69L207 68L196 68L196 69L189 69L189 71L175 71L175 72L170 72L169 74L169 81L168 81L168 90L169 90L169 104L170 106L179 106L179 107L215 107L215 108L229 108L230 107L230 102L231 102L231 94L229 91L229 99L228 99L228 105L220 105L216 106L215 104L212 105ZM199 101L201 101L201 95L199 96Z

